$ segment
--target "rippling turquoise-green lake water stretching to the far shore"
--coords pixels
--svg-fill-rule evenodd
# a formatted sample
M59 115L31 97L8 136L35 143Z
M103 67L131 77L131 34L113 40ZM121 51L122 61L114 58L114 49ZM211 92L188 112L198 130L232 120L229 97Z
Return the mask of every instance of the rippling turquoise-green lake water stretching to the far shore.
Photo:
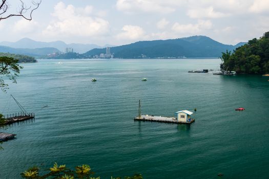
M222 178L269 178L266 77L187 73L218 69L218 59L58 62L23 64L18 83L0 93L0 113L19 111L13 94L36 115L5 130L17 136L3 143L0 178L20 178L18 171L54 162L89 164L101 178L135 172L144 178L218 178L219 172ZM135 122L139 99L143 114L173 116L196 107L196 121Z

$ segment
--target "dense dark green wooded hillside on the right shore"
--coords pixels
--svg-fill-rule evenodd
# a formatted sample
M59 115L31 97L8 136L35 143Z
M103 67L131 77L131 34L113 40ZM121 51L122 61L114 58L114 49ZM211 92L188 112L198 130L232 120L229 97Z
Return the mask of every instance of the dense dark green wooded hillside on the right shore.
M248 74L269 73L269 32L264 33L259 39L249 40L233 53L222 53L221 59L222 70Z

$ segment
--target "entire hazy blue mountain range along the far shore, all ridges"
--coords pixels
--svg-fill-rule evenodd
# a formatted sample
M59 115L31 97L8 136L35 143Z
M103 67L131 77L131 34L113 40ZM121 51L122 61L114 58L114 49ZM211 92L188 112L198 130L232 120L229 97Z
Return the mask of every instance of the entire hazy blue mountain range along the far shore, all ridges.
M207 36L191 36L168 40L138 41L123 46L111 47L114 58L199 58L219 57L221 52L233 51L242 46L240 42L235 46L220 43ZM71 47L80 54L61 54L65 48ZM94 49L92 49L94 48ZM61 49L61 50L59 50ZM34 56L38 58L55 58L48 54L58 53L57 58L94 58L95 55L106 54L106 48L95 44L67 44L63 41L42 42L23 38L16 42L0 42L0 52ZM85 53L86 52L86 53Z

